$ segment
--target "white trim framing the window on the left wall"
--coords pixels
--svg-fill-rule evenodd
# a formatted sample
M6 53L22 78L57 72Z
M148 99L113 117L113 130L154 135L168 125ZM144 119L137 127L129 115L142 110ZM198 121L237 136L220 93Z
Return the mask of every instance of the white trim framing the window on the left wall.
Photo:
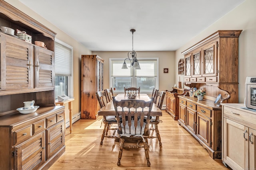
M73 98L74 97L74 74L73 74L73 47L68 45L67 43L64 43L63 41L60 41L59 39L56 39L55 38L55 41L57 43L60 43L68 48L71 49L71 76L68 76L68 96L70 98Z

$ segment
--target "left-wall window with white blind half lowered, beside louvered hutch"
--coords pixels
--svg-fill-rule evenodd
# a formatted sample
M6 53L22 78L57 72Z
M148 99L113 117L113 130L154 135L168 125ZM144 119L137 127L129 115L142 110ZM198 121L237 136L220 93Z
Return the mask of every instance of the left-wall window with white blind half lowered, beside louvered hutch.
M55 39L55 99L73 97L73 47Z

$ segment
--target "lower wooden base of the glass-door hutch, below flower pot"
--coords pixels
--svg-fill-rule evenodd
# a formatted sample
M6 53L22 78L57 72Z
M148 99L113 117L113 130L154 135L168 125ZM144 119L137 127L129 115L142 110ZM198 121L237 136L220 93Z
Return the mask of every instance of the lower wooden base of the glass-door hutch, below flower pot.
M191 133L213 159L221 159L221 107L211 100L198 101L189 96L178 96L178 124Z

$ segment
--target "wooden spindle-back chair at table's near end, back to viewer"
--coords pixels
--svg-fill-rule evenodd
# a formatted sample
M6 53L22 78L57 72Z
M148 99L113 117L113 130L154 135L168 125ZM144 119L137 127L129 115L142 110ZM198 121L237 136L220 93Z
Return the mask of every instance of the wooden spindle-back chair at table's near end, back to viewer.
M144 147L147 165L150 166L149 154L148 154L148 136L150 131L148 129L150 121L150 113L154 103L154 98L151 98L150 101L145 102L144 100L115 100L113 97L113 104L116 111L116 117L118 122L117 133L120 137L119 144L119 154L117 165L120 165L120 160L122 158L123 148L140 148ZM121 110L118 110L117 107L121 107ZM124 107L126 107L124 109ZM144 112L144 108L148 107L148 110ZM122 116L120 119L119 116ZM147 115L148 118L146 121L143 121L144 115ZM138 117L134 119L134 117ZM140 119L140 117L142 119ZM124 146L124 141L136 141L136 145ZM143 146L139 145L139 142L143 142Z

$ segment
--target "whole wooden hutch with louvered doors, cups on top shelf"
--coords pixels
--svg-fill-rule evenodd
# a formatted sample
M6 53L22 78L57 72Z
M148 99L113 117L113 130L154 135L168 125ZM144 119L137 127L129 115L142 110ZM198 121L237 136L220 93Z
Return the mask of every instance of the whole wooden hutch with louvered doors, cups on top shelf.
M39 47L0 32L1 170L48 169L65 152L64 106L54 102L56 33L0 0L0 25L26 31ZM35 100L37 111L16 111Z

